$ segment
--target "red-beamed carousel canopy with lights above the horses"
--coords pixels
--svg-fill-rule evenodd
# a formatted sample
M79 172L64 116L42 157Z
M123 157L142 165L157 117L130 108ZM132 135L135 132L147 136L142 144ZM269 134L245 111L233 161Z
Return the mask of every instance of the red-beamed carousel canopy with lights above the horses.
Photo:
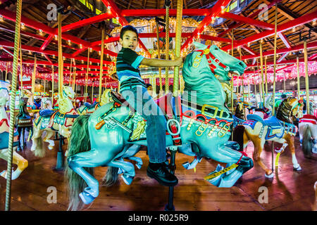
M168 40L170 58L174 57L173 49L175 49L176 4L177 1L170 1L170 39ZM316 68L317 60L317 3L314 0L184 0L182 56L192 51L192 41L216 44L230 54L233 45L233 56L241 58L248 66L244 78L252 78L257 77L261 69L261 41L268 74L272 73L275 4L278 8L277 72L287 74L284 77L290 77L294 74L297 57L299 63L304 63L304 39L307 40L311 65L309 73L316 72L313 68ZM12 68L15 10L16 1L1 0L0 70L10 71ZM52 68L54 73L58 72L56 11L61 12L63 72L66 77L64 82L70 80L70 74L73 74L76 68L76 81L78 84L85 84L88 67L89 85L99 85L103 26L106 32L104 77L115 72L116 55L120 50L118 35L123 25L130 24L137 27L140 37L137 51L140 54L157 58L159 46L161 58L165 58L167 41L164 0L25 0L22 4L20 34L25 77L30 77L32 74L35 55L37 77L51 79ZM156 20L159 22L159 27ZM156 30L159 31L159 43ZM153 72L151 74L156 75ZM145 72L144 75L149 74ZM250 82L254 80L256 82L257 79L250 79ZM110 77L108 81L114 82Z

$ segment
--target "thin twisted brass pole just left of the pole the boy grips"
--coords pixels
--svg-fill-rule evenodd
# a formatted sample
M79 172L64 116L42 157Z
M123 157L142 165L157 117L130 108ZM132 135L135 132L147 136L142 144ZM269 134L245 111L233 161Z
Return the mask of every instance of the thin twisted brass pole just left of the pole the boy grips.
M165 1L165 6L166 6L166 18L165 18L165 59L169 59L169 51L170 51L170 1L166 0ZM169 91L169 68L165 68L165 93L168 93ZM160 83L161 85L161 83ZM161 86L160 86L160 91L161 91Z

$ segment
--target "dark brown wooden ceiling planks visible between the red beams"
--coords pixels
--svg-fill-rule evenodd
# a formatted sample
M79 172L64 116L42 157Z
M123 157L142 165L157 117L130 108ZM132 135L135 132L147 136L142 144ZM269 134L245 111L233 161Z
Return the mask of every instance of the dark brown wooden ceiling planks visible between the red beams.
M272 1L272 0L271 0ZM271 1L268 0L259 0L259 1L252 1L249 6L243 9L243 11L239 12L239 15L242 15L244 17L247 17L254 13L254 11L259 9L260 4L270 4ZM96 8L98 8L101 11L106 11L106 7L102 3L101 0L89 0L91 4L95 4ZM139 0L139 1L133 1L133 0L113 0L113 2L118 6L120 9L158 9L164 7L164 0ZM35 20L39 23L42 23L43 25L57 28L57 21L48 21L46 19L46 14L48 12L46 6L48 4L54 3L57 6L63 6L64 8L68 8L68 13L66 15L62 15L62 26L63 25L70 25L77 21L90 18L95 16L92 11L89 10L86 6L80 3L78 0L23 0L23 8L22 8L22 15L30 18L31 20ZM183 1L183 8L212 8L213 4L215 4L216 1L214 0L184 0ZM173 0L171 1L170 8L176 8L177 1ZM317 1L315 0L284 0L280 1L278 4L278 25L281 25L283 23L290 23L291 20L294 20L296 18L301 17L302 15L306 15L309 13L313 13L317 10ZM8 11L15 12L16 8L16 1L8 0L4 4L0 5L0 9L6 9ZM274 15L275 15L275 7L271 7L268 10L268 20L266 20L266 23L270 23L271 25L274 25ZM195 19L202 20L204 16L194 17ZM134 19L134 18L126 18L128 21ZM257 18L253 18L254 20L257 20ZM225 20L224 23L217 25L216 27L213 27L216 29L216 32L220 34L221 32L224 32L232 25L232 23L235 23L233 20ZM111 29L115 27L116 25L113 25L112 23L106 23L106 32L110 33ZM14 30L15 30L15 22L11 20L4 20L3 22L0 22L0 41L11 41L14 42ZM247 37L251 37L254 34L258 34L263 32L263 28L255 27L254 25L249 24L240 24L233 30L233 35L235 40L242 40ZM299 40L299 35L302 37L308 37L309 31L311 32L311 37L308 39L308 43L316 41L317 40L317 30L316 25L313 25L313 23L307 23L305 25L301 25L296 27L296 30L287 30L283 32L285 38L289 42L290 46L297 46L299 44L303 44L303 41ZM49 34L43 33L42 36L39 34L39 30L35 30L32 27L27 27L23 29L23 32L27 32L29 34L36 34L37 37L42 38L35 38L30 37L30 35L21 34L21 42L23 45L27 46L34 46L36 48L40 48L44 40L49 37ZM100 41L101 40L101 29L100 29L100 23L95 23L91 25L86 25L84 27L79 27L74 30L70 30L66 32L66 34L73 35L73 37L77 37L79 39L94 42L94 41ZM231 39L231 33L225 34L224 38ZM274 35L271 37L267 37L263 39L263 51L270 51L273 50L273 42L274 42ZM63 52L64 53L75 53L78 49L80 49L80 46L77 44L68 44L68 41L63 40ZM222 43L221 47L227 46L228 43ZM249 48L251 51L254 51L255 53L259 53L259 41L251 42L249 45ZM277 39L277 49L285 49L287 48L287 45L285 45L285 42L278 37ZM13 49L9 49L11 52L13 52ZM45 50L51 50L51 51L57 51L57 41L54 39L49 42L49 45L46 46ZM241 51L242 56L250 55L248 51L245 49L242 49ZM309 56L312 56L313 54L317 53L317 48L312 48L308 50ZM87 57L87 51L82 51L79 56L85 56ZM234 56L239 57L240 54L237 51L237 49L234 50ZM57 57L52 58L52 56L48 56L49 60L51 60L53 63L57 62ZM96 58L99 59L99 53L97 51L92 51L90 54L90 58ZM105 56L106 57L106 56ZM279 57L282 57L282 54ZM299 58L303 58L303 51L299 52ZM34 54L30 54L28 51L23 51L23 60L32 60L34 58ZM293 53L287 54L285 57L285 60L292 60L295 59L296 55ZM45 56L38 55L38 60L48 60ZM104 58L104 60L111 60L110 58ZM268 56L268 62L273 61L273 56ZM252 63L253 60L249 59L246 61L247 64Z

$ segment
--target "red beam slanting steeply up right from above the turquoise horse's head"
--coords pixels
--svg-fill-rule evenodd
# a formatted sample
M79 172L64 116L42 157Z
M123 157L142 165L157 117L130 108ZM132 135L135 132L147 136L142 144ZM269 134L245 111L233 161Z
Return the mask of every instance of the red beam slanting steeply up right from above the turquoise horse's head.
M211 8L211 13L209 15L206 15L204 20L199 23L198 27L194 30L192 33L192 36L189 37L184 44L182 44L182 47L180 48L180 51L182 49L185 49L185 47L194 39L194 37L197 36L198 33L201 33L204 29L204 25L209 25L211 23L212 18L216 18L221 12L221 6L227 6L229 4L230 0L223 0L223 1L217 1L216 4Z

